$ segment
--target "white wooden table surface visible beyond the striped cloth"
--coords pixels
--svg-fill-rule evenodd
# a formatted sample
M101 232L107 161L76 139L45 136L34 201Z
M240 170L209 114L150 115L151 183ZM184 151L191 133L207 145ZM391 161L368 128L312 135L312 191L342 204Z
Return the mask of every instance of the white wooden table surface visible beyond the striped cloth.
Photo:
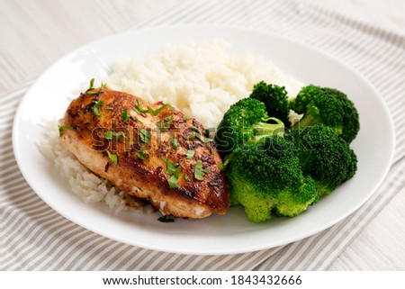
M38 77L68 51L125 31L184 1L2 0L0 95ZM405 34L405 5L401 0L306 1ZM113 21L98 21L101 17ZM329 270L405 269L404 206L405 188L359 232Z

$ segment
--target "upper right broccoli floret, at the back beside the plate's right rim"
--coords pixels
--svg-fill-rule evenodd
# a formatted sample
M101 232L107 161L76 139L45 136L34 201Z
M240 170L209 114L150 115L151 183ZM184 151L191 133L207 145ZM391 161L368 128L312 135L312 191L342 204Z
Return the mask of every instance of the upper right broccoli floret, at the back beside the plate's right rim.
M290 102L295 113L303 113L294 128L304 128L317 123L331 127L336 134L350 143L360 129L359 115L355 104L337 89L320 86L305 86Z

